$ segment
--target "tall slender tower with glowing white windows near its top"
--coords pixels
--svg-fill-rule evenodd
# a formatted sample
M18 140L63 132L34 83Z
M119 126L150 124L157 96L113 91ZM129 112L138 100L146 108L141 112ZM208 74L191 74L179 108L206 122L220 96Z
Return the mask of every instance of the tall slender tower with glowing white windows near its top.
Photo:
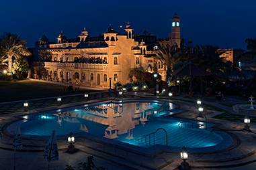
M177 46L181 47L181 29L179 23L179 15L175 13L171 18L171 33L169 33L169 38L171 39L171 46L173 44L177 44Z

